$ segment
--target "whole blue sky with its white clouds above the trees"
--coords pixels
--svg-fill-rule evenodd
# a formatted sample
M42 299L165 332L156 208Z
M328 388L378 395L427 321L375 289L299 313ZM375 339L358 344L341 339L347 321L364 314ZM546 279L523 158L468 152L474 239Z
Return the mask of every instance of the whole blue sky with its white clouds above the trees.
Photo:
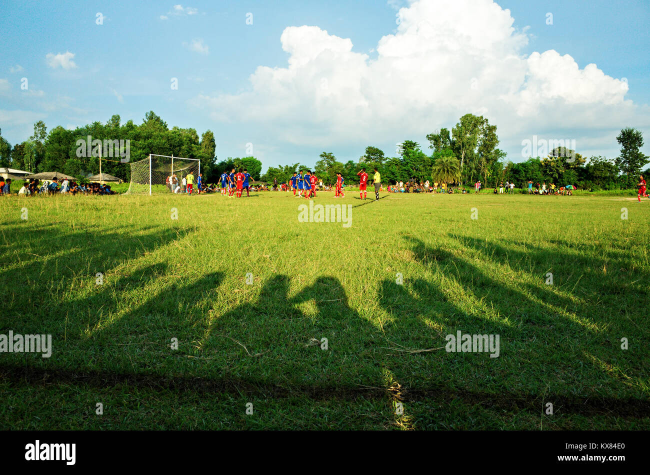
M16 144L36 120L48 129L112 114L140 123L154 110L170 127L211 129L220 158L244 156L253 144L264 168L311 165L324 150L357 160L367 145L395 155L406 139L426 149L426 133L465 112L496 123L513 161L533 135L575 139L579 153L608 157L622 127L650 141L650 2L474 1L481 8L459 10L471 29L457 25L459 2L443 0L4 2L0 128ZM422 19L430 29L416 27ZM313 28L289 29L281 42L285 29L302 25ZM559 54L526 61L549 50ZM547 77L569 57L577 73ZM585 70L591 63L596 71ZM453 66L431 66L442 64ZM259 66L271 69L256 73ZM506 86L513 77L519 83ZM629 88L619 94L623 81Z

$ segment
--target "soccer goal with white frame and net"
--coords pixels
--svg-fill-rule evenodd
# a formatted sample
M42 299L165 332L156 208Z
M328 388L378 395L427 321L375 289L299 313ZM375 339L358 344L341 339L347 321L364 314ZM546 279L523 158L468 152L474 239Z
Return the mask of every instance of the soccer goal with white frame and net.
M195 179L201 173L199 159L151 154L148 159L131 163L131 182L127 194L181 192L181 181L189 173Z

